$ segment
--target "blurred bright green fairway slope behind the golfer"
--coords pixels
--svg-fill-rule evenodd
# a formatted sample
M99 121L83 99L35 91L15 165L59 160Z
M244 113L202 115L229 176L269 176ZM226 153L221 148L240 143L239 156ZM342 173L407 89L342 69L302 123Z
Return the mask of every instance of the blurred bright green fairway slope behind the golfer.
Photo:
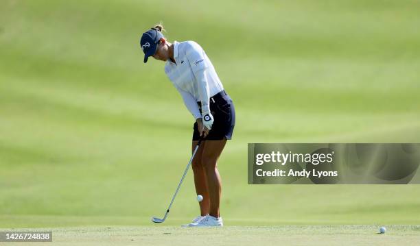
M226 225L420 223L416 185L247 184L247 143L418 143L419 1L0 3L0 227L150 225L194 119L142 32L195 40L235 103ZM191 171L191 170L190 170ZM167 224L198 214L189 173Z

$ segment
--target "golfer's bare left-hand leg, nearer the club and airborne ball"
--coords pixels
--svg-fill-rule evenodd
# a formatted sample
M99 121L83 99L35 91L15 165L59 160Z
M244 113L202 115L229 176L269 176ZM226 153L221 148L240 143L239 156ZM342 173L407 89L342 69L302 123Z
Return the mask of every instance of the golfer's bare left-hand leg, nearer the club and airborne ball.
M192 142L192 151L196 149L198 141ZM202 195L202 201L198 203L200 205L201 216L205 216L210 212L210 199L209 199L209 190L207 189L207 177L205 173L204 166L202 164L202 150L204 149L205 141L203 141L198 147L198 151L194 160L191 164L194 172L194 184L196 185L197 195Z

